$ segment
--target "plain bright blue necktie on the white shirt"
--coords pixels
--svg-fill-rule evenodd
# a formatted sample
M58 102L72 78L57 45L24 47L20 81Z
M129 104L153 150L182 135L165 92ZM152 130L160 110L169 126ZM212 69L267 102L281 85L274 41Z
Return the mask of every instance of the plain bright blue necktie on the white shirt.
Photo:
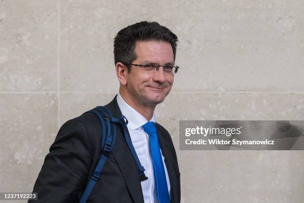
M150 137L150 151L153 161L154 179L156 182L158 202L170 203L170 196L168 192L166 175L162 164L155 123L149 121L145 125L143 125L143 128L144 131L148 133Z

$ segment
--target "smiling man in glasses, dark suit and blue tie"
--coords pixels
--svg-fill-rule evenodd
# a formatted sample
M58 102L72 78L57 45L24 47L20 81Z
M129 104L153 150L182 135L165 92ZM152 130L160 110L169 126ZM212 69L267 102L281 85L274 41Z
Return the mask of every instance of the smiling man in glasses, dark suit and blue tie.
M117 33L114 58L120 89L106 107L114 117L124 115L128 120L127 131L148 179L140 180L123 130L117 126L115 145L87 202L180 202L175 149L169 133L154 124L155 106L169 94L178 70L176 43L176 35L157 22L139 22ZM35 203L79 202L102 153L101 130L93 113L61 127L35 183Z

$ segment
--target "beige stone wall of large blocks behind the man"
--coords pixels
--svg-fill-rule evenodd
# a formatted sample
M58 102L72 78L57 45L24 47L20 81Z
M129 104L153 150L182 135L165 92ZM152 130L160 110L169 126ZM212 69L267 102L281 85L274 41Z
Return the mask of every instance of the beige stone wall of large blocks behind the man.
M182 203L303 203L303 151L180 151L179 120L303 120L303 0L0 0L0 192L30 192L59 127L118 92L117 31L179 37L171 133ZM21 203L22 201L18 201Z

